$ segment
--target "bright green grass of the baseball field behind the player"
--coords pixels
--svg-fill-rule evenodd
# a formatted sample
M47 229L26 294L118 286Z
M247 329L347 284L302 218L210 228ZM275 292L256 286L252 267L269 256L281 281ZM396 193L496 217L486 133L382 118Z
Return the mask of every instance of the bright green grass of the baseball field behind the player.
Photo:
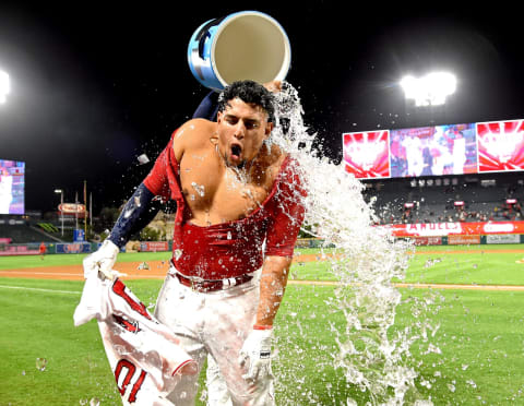
M521 249L524 246L479 246L474 250ZM464 247L419 248L407 279L425 283L493 285L522 284L515 261L508 253L437 253ZM305 251L305 250L299 250ZM317 252L317 251L314 251ZM129 256L128 256L129 255ZM511 256L513 255L513 256ZM84 255L12 259L11 268L81 263ZM440 258L441 261L434 261ZM165 260L166 253L121 254L119 261ZM4 258L0 268L5 267ZM61 261L60 261L61 260ZM429 264L428 260L433 263ZM33 261L34 265L31 265ZM22 266L26 264L25 266ZM474 265L477 266L474 266ZM31 266L29 266L31 265ZM520 266L521 267L520 267ZM291 275L303 279L330 278L325 263L295 264ZM480 280L480 282L479 282ZM485 282L481 282L485 280ZM153 309L162 280L129 280L128 286ZM119 395L104 354L96 322L74 327L72 315L82 282L0 278L0 406L79 405L92 397L102 405L118 405ZM413 325L415 299L434 295L427 317L440 324L430 342L441 353L424 355L428 343L417 343L409 360L424 380L422 398L434 405L524 404L524 292L401 289L394 330ZM347 396L365 404L366 395L346 384L333 368L335 336L330 323L343 331L340 310L327 304L333 287L288 286L276 323L278 354L274 363L278 405L346 405ZM36 358L46 358L38 371ZM421 382L427 382L421 385ZM428 387L430 386L430 387ZM201 405L204 403L200 402Z

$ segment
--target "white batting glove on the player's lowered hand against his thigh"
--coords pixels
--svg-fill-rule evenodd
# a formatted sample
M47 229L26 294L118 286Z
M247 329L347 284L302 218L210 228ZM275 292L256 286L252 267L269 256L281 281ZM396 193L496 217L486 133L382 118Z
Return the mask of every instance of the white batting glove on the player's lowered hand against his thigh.
M242 375L246 381L265 380L271 377L271 343L273 330L254 327L243 342L240 349L240 366L248 366L248 372Z

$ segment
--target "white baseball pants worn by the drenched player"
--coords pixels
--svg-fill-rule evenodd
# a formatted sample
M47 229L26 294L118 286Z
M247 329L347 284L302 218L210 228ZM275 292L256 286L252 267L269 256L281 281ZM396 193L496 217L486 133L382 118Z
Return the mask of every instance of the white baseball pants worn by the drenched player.
M242 378L247 368L238 362L243 341L254 324L258 302L257 277L225 290L199 292L167 275L156 303L155 317L171 329L200 369L207 354L214 358L234 406L275 404L273 378L249 384ZM168 398L177 406L194 405L198 379L198 374L183 377ZM219 404L219 399L213 402Z

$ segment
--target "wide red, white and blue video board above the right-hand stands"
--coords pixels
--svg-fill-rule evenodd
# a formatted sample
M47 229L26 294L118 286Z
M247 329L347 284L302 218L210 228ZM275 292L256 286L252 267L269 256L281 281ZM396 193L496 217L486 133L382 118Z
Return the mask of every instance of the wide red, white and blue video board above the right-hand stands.
M524 170L524 120L343 134L356 178L412 178Z

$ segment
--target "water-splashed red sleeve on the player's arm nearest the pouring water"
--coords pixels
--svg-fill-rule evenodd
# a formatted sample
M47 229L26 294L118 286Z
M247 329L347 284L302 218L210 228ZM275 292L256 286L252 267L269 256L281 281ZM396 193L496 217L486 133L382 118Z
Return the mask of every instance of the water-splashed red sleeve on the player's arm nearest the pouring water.
M273 213L270 216L265 255L293 256L298 231L306 213L303 199L307 192L298 164L289 158L277 179Z

